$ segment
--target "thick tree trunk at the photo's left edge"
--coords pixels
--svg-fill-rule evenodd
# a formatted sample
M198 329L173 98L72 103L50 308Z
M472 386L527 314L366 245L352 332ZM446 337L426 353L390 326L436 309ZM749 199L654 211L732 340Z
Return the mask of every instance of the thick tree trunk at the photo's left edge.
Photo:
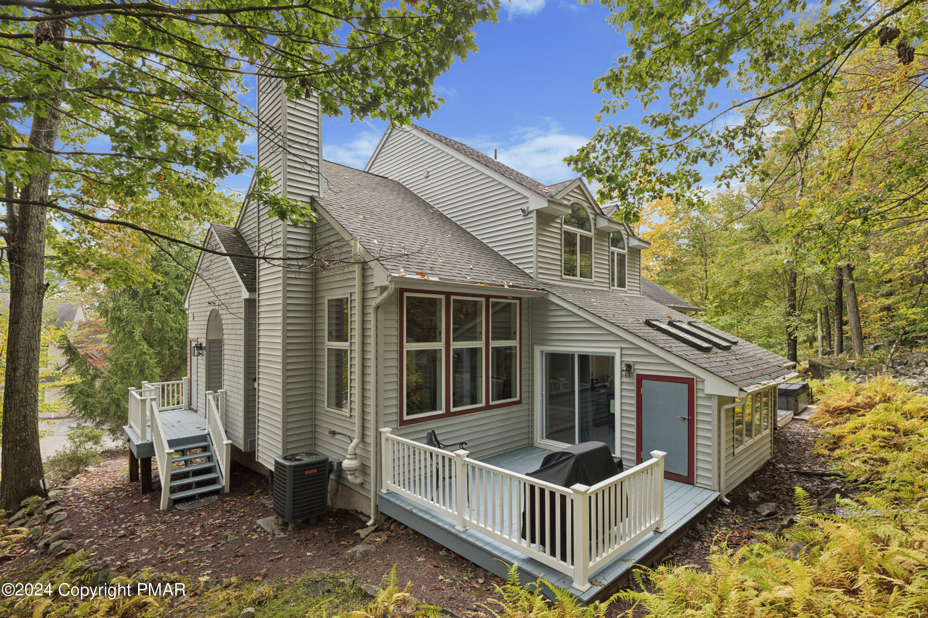
M41 23L40 23L41 25ZM64 33L63 21L52 32ZM63 48L60 41L55 43ZM61 120L60 101L45 107L45 117L32 116L29 147L48 153L55 149ZM0 470L0 509L19 510L19 502L41 493L45 476L39 448L39 358L42 307L45 302L45 201L48 199L51 161L39 170L19 193L23 200L13 225L7 228L9 260L9 330L6 340L4 384L3 464ZM29 203L34 202L34 203Z

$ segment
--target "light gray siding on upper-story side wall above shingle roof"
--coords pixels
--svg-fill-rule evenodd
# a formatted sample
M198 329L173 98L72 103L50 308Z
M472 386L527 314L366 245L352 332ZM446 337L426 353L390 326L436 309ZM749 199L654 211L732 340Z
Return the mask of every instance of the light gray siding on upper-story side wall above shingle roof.
M431 144L419 132L393 129L369 171L403 183L522 270L534 270L532 218L522 215L528 196L478 165Z

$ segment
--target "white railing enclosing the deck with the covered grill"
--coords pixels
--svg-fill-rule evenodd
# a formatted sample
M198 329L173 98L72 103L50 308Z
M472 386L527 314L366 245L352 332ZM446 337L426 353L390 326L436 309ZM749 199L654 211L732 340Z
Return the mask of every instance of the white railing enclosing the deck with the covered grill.
M664 455L596 486L561 487L381 429L382 491L396 492L589 588L589 576L664 524Z

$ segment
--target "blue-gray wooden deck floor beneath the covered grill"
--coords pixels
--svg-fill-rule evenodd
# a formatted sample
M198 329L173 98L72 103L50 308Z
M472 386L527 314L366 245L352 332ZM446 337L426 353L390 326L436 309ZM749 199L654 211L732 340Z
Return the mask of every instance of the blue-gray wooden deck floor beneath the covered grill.
M548 451L545 449L526 447L484 461L512 472L528 473L538 468L546 454ZM649 534L615 560L607 563L590 577L591 582L599 582L599 585L590 586L586 591L572 587L569 577L532 560L517 549L511 549L483 536L474 529L461 532L456 529L455 522L451 519L396 493L379 492L378 505L381 512L429 536L492 573L505 576L509 564L517 562L522 583L543 577L556 586L570 589L578 599L588 603L608 597L615 590L625 586L627 576L636 564L650 566L660 560L671 545L715 507L718 497L718 492L711 489L665 480L664 532Z

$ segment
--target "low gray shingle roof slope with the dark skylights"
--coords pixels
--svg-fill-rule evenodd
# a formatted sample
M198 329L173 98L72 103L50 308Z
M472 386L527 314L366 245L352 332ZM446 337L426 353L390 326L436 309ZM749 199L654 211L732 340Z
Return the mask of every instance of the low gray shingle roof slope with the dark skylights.
M724 333L704 322L700 325L711 332L725 334L728 338L738 339L738 344L731 349L713 348L702 352L695 347L677 341L673 337L660 333L644 323L645 320L667 322L668 319L692 321L692 318L669 309L645 296L626 296L606 289L586 289L573 285L545 284L549 292L561 296L574 306L612 322L619 328L636 334L645 341L661 347L675 356L689 360L697 367L714 373L720 378L741 388L753 386L780 378L792 373L783 367L790 361L774 354L763 347L756 346L744 339Z

